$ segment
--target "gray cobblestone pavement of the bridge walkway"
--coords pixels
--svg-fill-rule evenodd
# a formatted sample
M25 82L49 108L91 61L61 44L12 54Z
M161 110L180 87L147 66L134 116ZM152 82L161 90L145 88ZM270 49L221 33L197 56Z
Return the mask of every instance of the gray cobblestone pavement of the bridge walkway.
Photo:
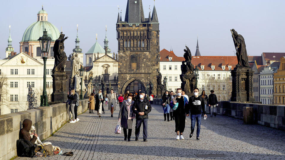
M202 140L197 141L196 129L192 139L189 138L191 121L187 118L185 140L175 140L175 122L163 121L162 107L153 105L148 119L148 142L143 142L142 132L139 141L134 141L135 120L132 141L127 142L123 140L123 129L121 134L114 134L118 113L114 111L114 118L110 117L110 111L101 118L88 111L80 114L79 122L67 123L45 140L61 147L63 152L74 152L74 156L37 159L285 159L285 132L277 129L245 125L227 116L209 116L202 119ZM197 156L202 154L212 155Z

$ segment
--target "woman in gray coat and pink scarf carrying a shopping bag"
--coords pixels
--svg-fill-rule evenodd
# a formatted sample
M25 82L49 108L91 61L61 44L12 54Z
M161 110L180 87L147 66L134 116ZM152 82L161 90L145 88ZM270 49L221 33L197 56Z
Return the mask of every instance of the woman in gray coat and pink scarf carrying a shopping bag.
M128 99L123 101L119 112L119 120L121 120L121 127L123 127L125 136L124 140L128 138L128 141L131 141L133 119L136 117L133 113L134 101L132 98L132 95L129 95ZM128 134L127 129L129 129Z

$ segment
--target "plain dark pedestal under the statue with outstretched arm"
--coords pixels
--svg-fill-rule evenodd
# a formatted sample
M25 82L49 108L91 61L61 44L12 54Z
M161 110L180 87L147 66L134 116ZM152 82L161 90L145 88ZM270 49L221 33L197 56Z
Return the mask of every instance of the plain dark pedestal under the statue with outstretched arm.
M66 82L67 75L65 72L53 72L53 93L51 94L52 102L67 101Z

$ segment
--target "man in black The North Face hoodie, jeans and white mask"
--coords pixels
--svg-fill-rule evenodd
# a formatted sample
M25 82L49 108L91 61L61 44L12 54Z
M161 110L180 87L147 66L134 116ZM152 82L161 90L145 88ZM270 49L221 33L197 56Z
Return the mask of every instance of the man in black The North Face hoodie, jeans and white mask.
M194 95L189 98L189 106L190 106L190 113L191 113L191 133L190 138L192 138L194 129L195 129L195 123L197 120L197 134L196 134L196 140L201 140L200 135L200 129L201 129L201 114L203 114L206 118L207 115L205 113L205 107L204 107L204 100L201 96L199 96L199 89L194 88ZM203 106L203 107L202 107ZM201 112L201 108L203 113Z

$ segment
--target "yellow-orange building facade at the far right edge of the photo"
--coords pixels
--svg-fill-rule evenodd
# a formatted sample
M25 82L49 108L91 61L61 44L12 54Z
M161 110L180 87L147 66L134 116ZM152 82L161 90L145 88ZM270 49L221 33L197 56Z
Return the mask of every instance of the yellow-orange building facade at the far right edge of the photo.
M274 82L274 104L285 104L285 57L280 58L280 67L273 76Z

